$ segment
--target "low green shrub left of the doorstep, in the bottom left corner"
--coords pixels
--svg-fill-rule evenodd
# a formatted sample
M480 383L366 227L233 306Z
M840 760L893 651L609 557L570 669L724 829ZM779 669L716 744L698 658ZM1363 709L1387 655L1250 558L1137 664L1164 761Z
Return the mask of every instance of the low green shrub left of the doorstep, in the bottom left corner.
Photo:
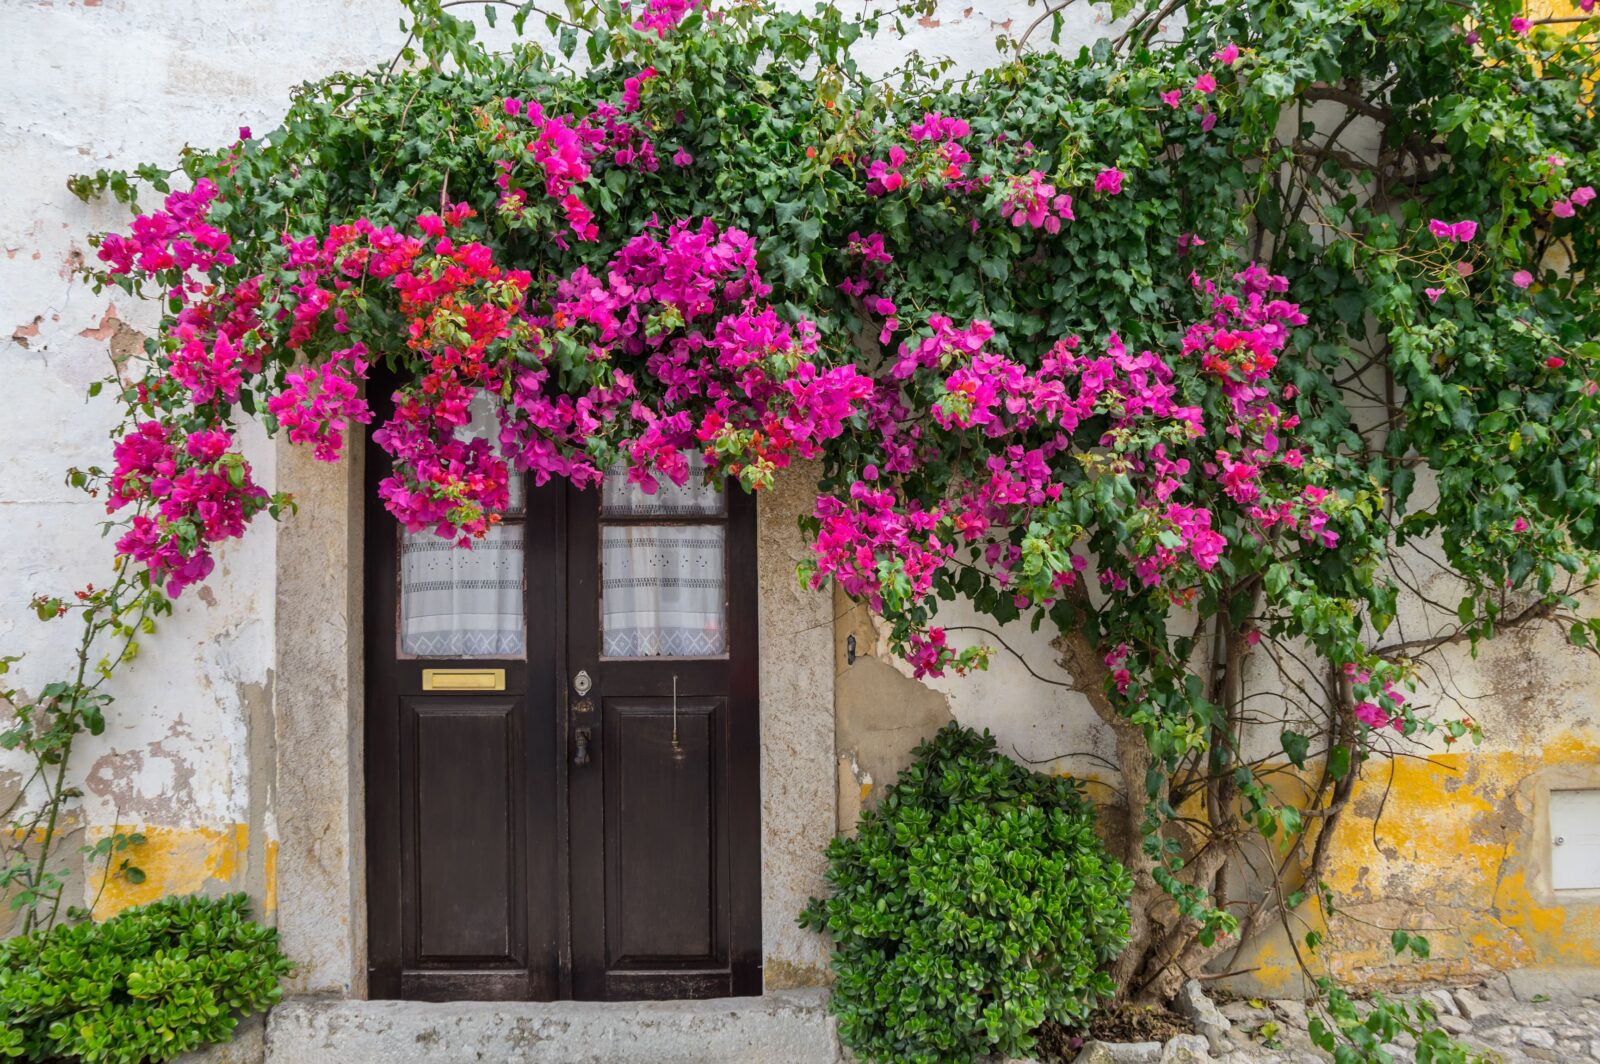
M227 1042L291 965L245 894L163 898L0 942L0 1056L142 1064Z

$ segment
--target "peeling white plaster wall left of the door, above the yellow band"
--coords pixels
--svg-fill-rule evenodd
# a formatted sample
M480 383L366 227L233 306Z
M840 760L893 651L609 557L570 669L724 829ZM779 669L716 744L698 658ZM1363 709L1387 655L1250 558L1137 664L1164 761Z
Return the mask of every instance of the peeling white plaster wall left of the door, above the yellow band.
M78 622L40 624L29 598L110 576L102 504L62 483L69 466L110 464L115 403L88 402L85 389L109 371L118 322L149 331L157 320L152 306L96 296L74 277L93 254L88 235L128 214L78 202L67 178L269 128L294 83L390 54L398 32L382 0L0 0L0 379L11 397L0 418L0 654L26 654L14 675L32 691L69 667ZM246 432L246 454L270 485L259 430ZM88 822L248 821L245 699L270 680L274 557L262 518L114 680L106 734L75 752Z

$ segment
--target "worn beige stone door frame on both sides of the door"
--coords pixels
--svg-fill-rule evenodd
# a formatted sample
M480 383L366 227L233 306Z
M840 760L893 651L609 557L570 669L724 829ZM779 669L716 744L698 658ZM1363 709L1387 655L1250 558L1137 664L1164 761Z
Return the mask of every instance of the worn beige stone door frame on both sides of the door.
M269 773L269 891L294 960L291 994L366 997L362 717L363 446L341 462L275 445L278 490L299 510L277 528ZM757 506L762 691L762 950L768 990L821 986L826 941L795 926L822 888L837 824L832 600L795 581L816 469L797 466ZM341 579L342 574L342 579ZM270 866L269 866L270 867Z

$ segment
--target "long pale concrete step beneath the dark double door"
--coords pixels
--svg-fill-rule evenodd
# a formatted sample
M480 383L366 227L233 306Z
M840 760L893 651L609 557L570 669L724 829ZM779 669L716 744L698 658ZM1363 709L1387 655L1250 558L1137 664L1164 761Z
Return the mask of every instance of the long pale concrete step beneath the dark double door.
M826 990L710 1002L344 1002L267 1016L267 1064L837 1064Z

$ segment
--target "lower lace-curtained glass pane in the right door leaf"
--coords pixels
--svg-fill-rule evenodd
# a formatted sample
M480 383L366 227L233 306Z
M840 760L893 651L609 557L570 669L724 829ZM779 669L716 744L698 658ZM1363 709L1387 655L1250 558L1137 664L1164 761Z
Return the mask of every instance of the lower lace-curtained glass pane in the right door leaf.
M600 653L728 653L722 525L602 525Z

